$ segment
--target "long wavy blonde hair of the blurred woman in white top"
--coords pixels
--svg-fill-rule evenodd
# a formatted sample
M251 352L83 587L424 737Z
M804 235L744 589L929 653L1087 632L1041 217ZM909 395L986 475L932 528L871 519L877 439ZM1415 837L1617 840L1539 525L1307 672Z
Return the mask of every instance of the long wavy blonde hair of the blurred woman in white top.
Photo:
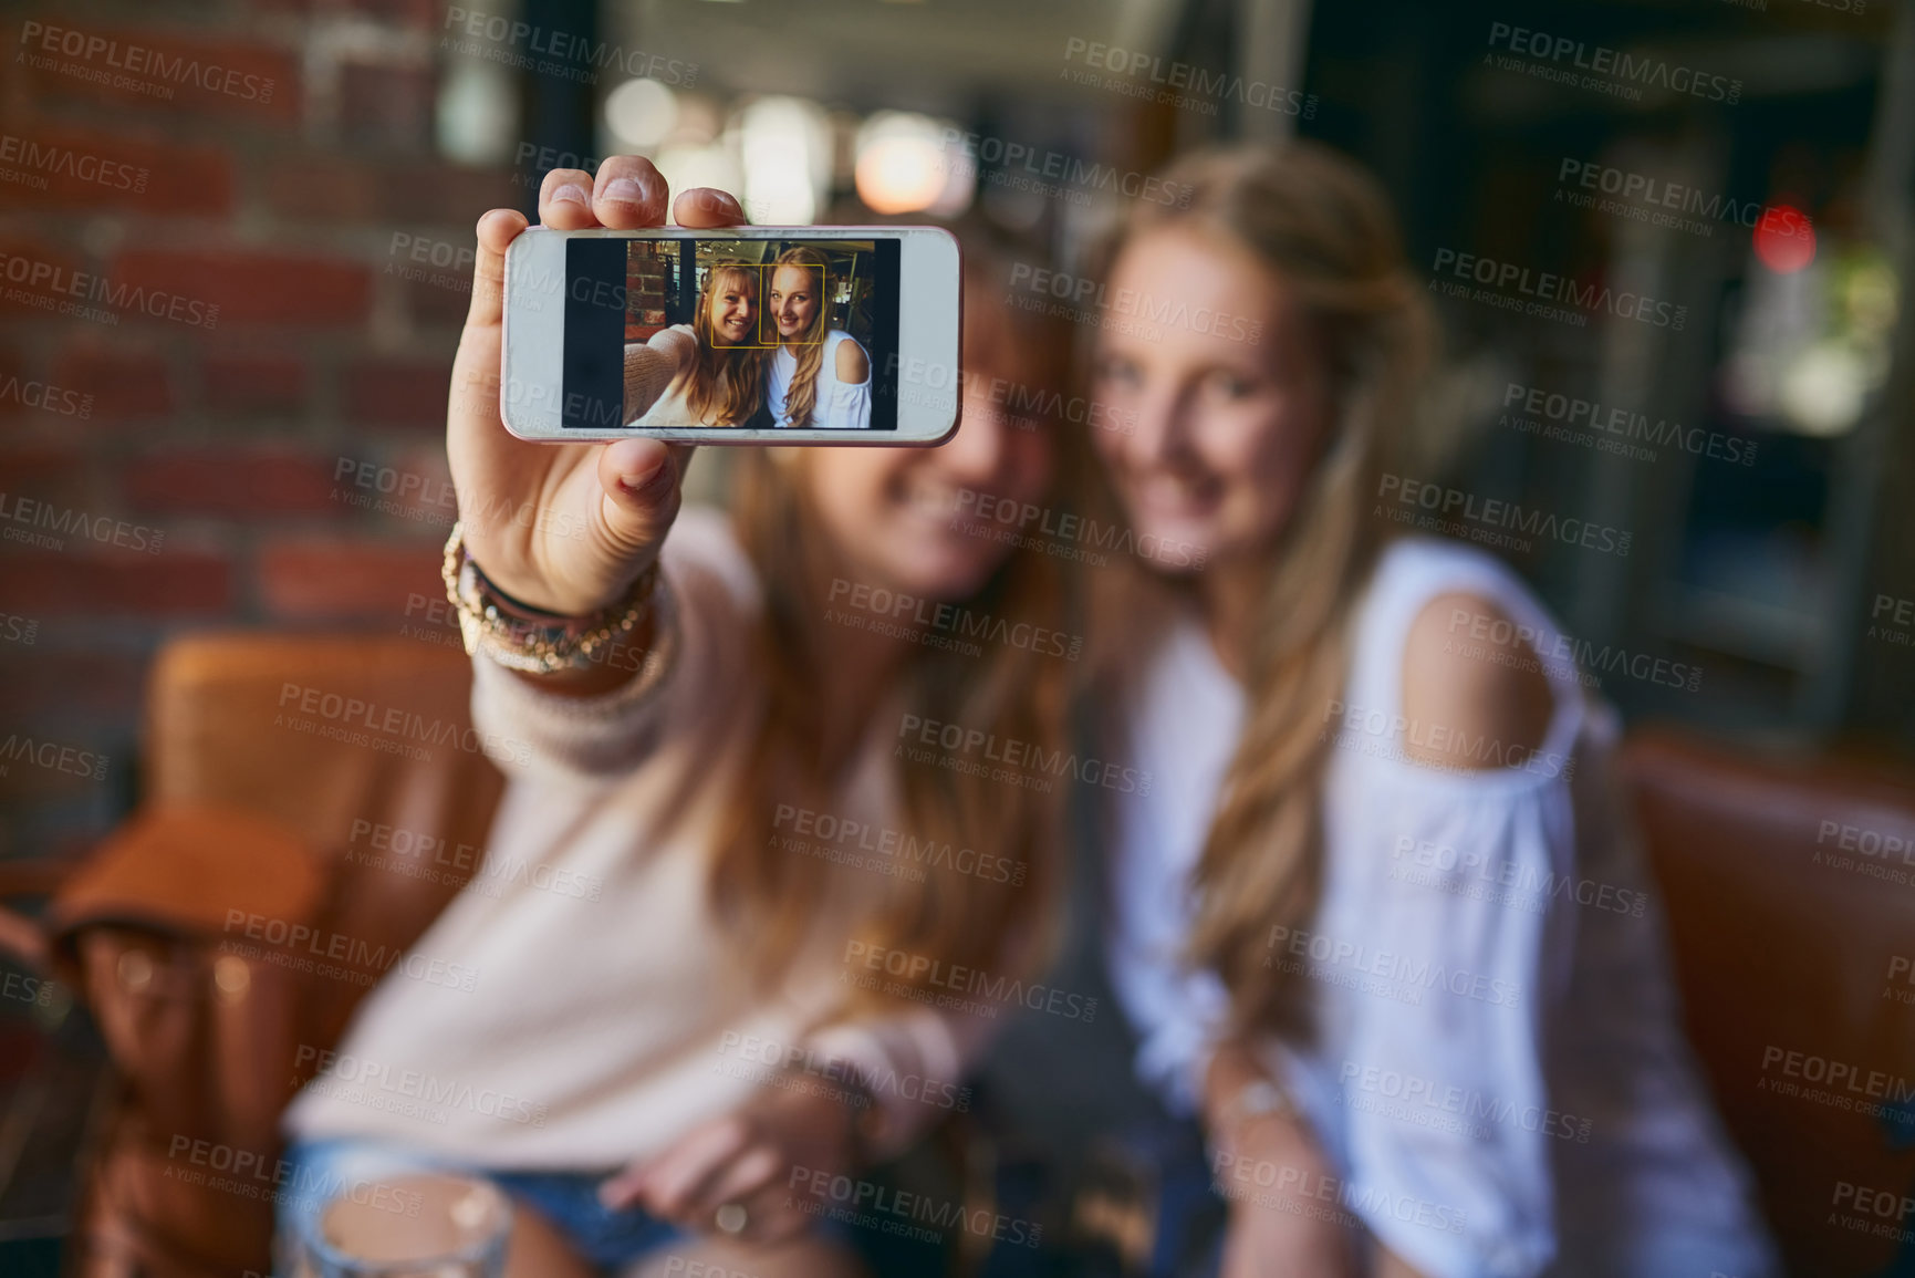
M1237 1033L1302 1038L1312 1029L1306 983L1275 962L1270 939L1275 925L1308 925L1321 893L1325 715L1342 696L1352 613L1386 540L1369 498L1409 416L1432 322L1386 197L1337 151L1312 142L1214 148L1162 178L1189 190L1187 205L1134 205L1103 245L1103 268L1164 226L1243 245L1283 282L1329 374L1329 429L1266 558L1247 717L1191 878L1185 947L1191 964L1224 979ZM1093 602L1095 628L1128 625L1109 609L1134 619L1139 596L1160 596L1160 582L1139 577L1132 565L1115 594Z

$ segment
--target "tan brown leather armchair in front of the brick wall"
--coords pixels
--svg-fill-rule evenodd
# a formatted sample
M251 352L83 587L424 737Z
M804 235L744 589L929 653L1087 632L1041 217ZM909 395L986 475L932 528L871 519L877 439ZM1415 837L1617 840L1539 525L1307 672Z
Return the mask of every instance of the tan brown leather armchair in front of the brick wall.
M280 1111L475 868L425 849L484 847L504 778L469 688L463 651L410 638L161 651L140 810L38 918L0 914L0 945L79 991L115 1063L65 1272L268 1270ZM381 832L410 858L372 868ZM15 893L52 885L10 870Z

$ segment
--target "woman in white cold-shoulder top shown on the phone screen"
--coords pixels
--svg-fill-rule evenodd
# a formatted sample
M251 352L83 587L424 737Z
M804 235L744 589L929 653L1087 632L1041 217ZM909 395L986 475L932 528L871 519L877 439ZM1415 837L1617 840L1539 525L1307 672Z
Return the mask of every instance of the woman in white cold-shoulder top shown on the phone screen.
M831 262L797 245L770 270L766 310L777 351L766 370L764 402L777 425L862 431L871 425L871 356L831 328Z

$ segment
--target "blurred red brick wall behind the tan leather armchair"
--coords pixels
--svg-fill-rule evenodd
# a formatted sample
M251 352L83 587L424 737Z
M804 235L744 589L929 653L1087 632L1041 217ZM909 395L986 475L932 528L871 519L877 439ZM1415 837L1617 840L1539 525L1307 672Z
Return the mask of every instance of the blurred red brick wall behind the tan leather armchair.
M169 634L396 634L439 592L471 226L527 180L435 155L442 21L0 19L0 856L132 801Z

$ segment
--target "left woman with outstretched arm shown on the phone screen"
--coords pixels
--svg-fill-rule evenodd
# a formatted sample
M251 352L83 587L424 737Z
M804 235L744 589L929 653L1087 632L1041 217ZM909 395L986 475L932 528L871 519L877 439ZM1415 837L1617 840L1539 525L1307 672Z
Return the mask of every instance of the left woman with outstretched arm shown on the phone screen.
M714 262L691 324L626 345L626 425L745 425L764 395L758 318L758 268Z

